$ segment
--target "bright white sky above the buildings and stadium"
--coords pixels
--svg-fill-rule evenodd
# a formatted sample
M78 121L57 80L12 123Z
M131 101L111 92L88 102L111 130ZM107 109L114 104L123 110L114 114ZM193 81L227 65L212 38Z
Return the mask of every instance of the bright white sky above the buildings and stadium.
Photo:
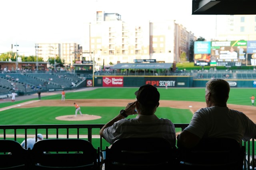
M96 11L118 13L122 20L176 20L196 37L216 35L215 15L192 15L192 0L1 0L0 53L35 55L36 43L83 45Z

